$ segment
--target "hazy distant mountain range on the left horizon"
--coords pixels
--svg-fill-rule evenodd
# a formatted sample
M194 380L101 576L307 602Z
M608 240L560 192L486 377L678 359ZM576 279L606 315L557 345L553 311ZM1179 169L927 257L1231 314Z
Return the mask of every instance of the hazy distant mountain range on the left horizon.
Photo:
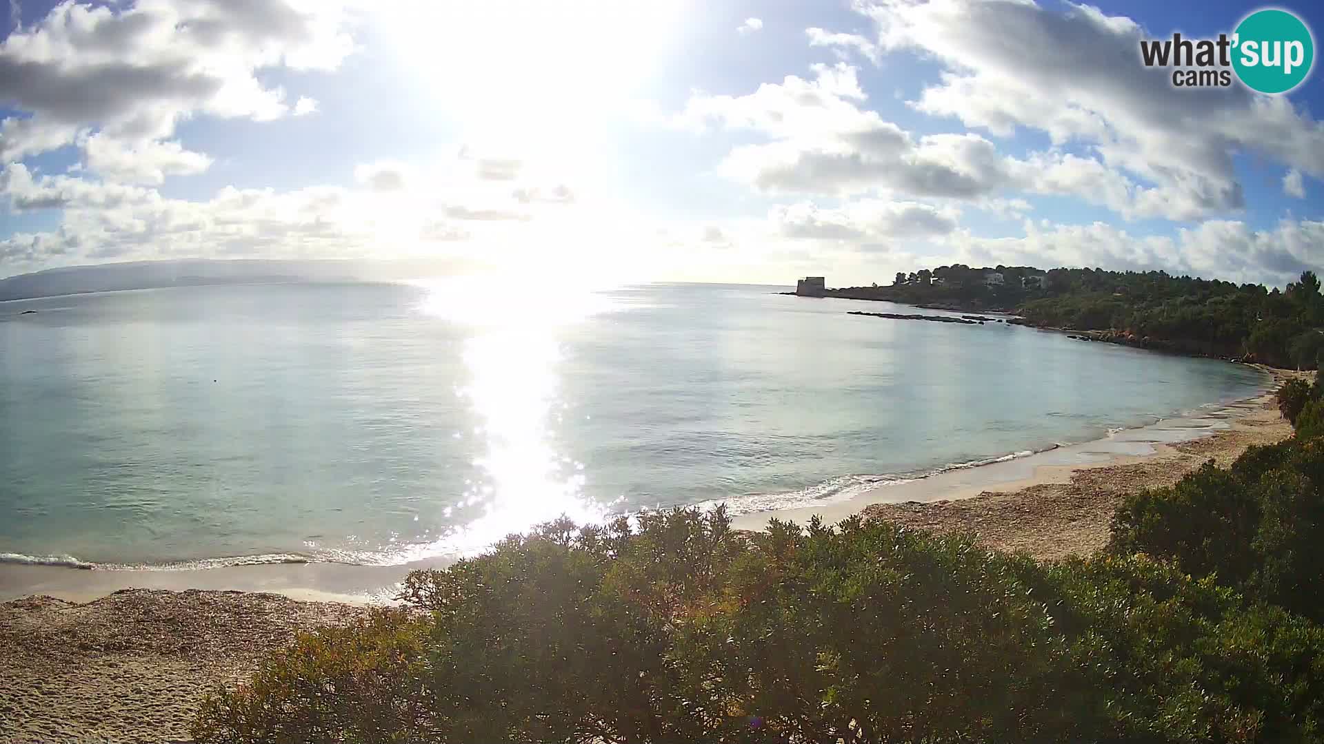
M420 261L135 261L48 269L0 279L0 302L62 294L199 285L388 281L463 270L455 262Z

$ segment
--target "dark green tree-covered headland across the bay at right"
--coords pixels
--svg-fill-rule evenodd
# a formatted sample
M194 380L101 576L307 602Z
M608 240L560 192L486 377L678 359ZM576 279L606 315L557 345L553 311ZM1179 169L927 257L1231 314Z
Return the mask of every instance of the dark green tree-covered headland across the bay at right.
M896 274L891 286L828 290L947 310L1001 310L1035 327L1181 353L1315 369L1324 352L1324 297L1313 271L1286 290L1164 271L940 266Z

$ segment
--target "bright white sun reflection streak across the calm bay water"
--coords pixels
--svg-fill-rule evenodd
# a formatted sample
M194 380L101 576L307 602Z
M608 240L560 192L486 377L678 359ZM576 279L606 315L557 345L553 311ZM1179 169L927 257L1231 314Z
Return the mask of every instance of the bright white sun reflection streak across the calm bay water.
M466 522L397 560L471 555L563 514L581 524L604 520L610 504L584 495L584 465L559 451L552 426L564 408L559 331L610 310L609 299L564 283L502 282L499 291L473 279L426 286L421 310L471 334L462 351L467 384L455 393L482 422L473 436L483 442L483 454L473 463L477 477L444 511Z

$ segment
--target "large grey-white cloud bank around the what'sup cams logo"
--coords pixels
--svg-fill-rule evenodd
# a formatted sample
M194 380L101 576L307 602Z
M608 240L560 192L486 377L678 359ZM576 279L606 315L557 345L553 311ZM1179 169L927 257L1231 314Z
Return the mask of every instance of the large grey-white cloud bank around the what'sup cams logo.
M1133 185L1131 213L1174 220L1243 207L1231 152L1246 150L1324 175L1324 124L1287 97L1241 86L1174 90L1137 61L1148 32L1087 5L1023 0L861 0L878 45L945 68L914 103L994 135L1042 130L1084 143ZM1229 19L1229 23L1234 19ZM1162 30L1162 29L1160 29Z

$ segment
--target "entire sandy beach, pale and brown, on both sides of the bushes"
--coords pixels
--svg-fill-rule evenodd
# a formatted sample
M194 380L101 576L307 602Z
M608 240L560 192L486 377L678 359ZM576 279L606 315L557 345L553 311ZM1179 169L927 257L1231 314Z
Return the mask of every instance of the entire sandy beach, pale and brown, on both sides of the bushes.
M1274 376L1270 389L1298 375L1266 372ZM1107 543L1124 494L1173 483L1207 459L1226 465L1250 445L1290 434L1266 392L1104 442L809 508L741 515L735 526L862 512L923 530L970 531L986 545L1047 560L1088 555ZM0 604L0 743L187 740L208 688L242 679L297 630L350 622L364 604L389 598L410 568L418 567L5 567L0 598L24 598Z

